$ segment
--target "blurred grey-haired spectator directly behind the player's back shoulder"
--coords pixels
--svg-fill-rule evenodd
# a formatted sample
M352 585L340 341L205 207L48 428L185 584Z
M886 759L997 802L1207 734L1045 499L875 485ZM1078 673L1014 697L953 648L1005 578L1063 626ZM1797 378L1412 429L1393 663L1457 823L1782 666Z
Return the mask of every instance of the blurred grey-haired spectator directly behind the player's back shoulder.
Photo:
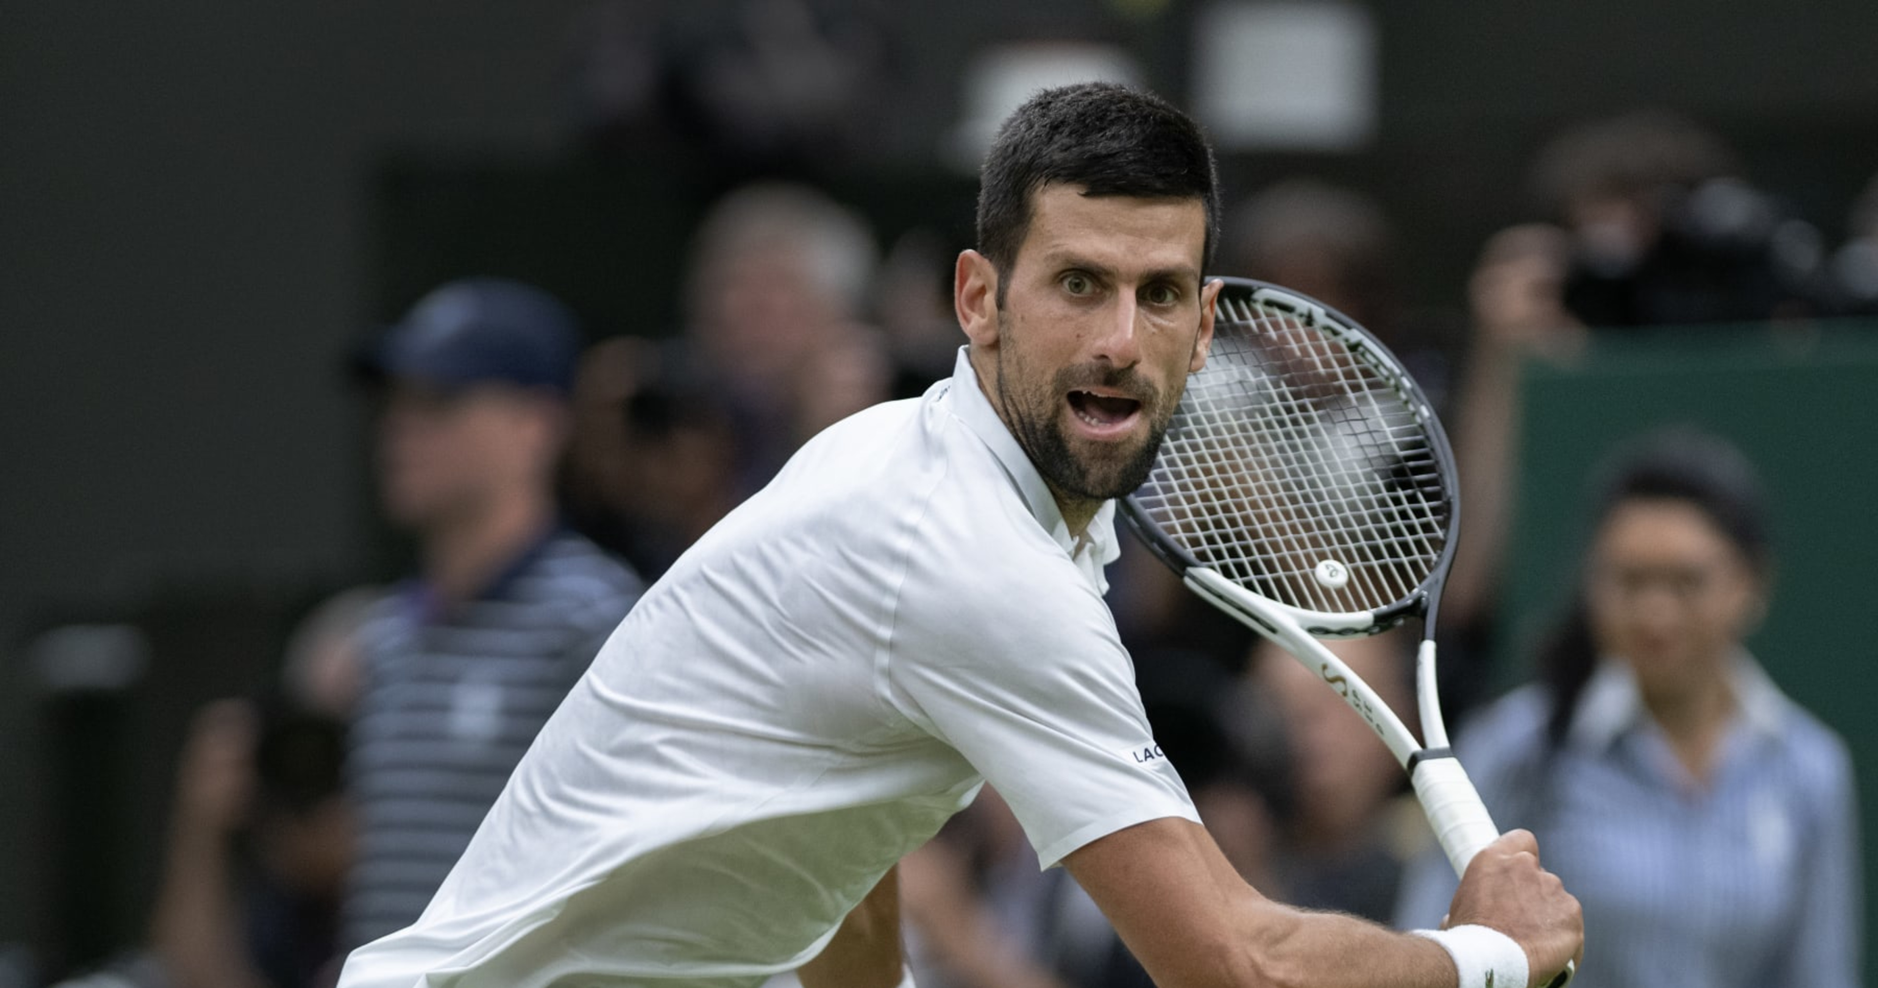
M881 332L860 321L873 270L860 216L804 186L746 186L704 218L685 344L697 387L731 409L738 500L824 426L886 398Z

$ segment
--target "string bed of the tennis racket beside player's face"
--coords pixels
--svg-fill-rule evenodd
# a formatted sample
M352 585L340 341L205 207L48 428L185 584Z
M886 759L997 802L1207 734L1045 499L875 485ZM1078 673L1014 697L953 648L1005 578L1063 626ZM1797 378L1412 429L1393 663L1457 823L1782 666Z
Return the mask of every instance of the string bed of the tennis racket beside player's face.
M1399 374L1335 327L1223 297L1136 502L1255 594L1328 612L1403 601L1440 560L1450 498ZM1318 579L1326 560L1347 582Z

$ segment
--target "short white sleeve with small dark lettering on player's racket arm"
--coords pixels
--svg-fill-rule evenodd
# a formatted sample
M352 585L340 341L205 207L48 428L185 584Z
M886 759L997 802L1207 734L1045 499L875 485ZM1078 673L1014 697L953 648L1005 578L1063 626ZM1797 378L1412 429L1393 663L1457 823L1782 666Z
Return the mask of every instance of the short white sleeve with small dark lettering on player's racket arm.
M1027 586L905 599L886 669L892 702L999 791L1044 868L1136 823L1198 823L1108 607L1069 558L1050 563Z

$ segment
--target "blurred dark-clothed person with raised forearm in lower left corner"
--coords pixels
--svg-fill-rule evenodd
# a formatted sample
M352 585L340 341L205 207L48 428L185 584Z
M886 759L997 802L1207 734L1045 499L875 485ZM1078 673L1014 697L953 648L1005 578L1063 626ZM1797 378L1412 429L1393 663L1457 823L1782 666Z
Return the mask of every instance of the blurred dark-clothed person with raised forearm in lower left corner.
M197 712L148 950L66 988L316 988L338 973L353 864L338 721L220 701Z

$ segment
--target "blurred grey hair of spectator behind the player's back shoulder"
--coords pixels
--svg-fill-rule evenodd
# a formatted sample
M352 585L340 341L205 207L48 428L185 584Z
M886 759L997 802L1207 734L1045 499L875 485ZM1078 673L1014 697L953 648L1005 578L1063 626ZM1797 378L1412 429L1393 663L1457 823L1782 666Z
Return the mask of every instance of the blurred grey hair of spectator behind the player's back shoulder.
M699 225L687 286L691 312L700 312L699 299L721 261L762 250L800 257L804 274L839 306L838 316L866 310L879 263L868 222L815 188L759 182L719 199Z

